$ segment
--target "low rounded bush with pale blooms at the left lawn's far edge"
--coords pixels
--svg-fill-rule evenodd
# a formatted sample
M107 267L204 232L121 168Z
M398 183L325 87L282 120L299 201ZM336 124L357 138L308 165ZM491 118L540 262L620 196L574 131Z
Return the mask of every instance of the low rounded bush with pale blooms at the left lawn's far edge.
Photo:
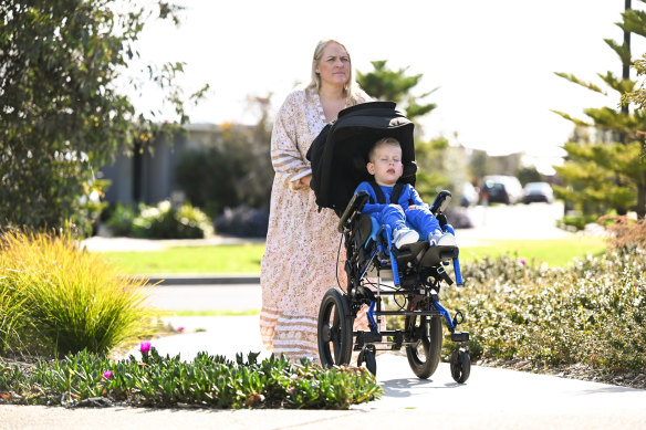
M204 239L212 233L212 223L202 211L190 203L176 209L167 200L156 207L140 204L132 224L135 238Z

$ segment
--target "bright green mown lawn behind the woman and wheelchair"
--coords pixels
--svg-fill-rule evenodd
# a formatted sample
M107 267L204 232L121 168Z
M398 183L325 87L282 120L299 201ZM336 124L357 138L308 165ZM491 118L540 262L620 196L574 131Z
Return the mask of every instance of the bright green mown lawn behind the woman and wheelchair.
M491 240L485 245L460 248L460 262L485 255L518 254L528 263L545 262L565 266L575 256L597 255L605 250L600 238L576 237L550 240ZM264 244L176 247L150 252L105 252L104 255L128 274L259 273Z

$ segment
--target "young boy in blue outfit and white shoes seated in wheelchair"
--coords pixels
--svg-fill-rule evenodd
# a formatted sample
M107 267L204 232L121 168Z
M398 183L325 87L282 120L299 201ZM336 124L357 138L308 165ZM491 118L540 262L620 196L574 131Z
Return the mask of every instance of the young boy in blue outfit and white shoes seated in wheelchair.
M386 204L377 202L375 189L369 182L361 182L355 193L358 190L368 192L369 199L362 213L368 213L376 218L377 222L390 226L395 248L399 249L419 240L417 231L409 229L406 221L421 232L424 238L428 238L431 247L456 245L456 238L440 230L439 222L413 186L404 185L397 201L390 201L393 188L404 172L402 147L397 139L385 137L377 140L368 154L368 159L366 168L382 189Z

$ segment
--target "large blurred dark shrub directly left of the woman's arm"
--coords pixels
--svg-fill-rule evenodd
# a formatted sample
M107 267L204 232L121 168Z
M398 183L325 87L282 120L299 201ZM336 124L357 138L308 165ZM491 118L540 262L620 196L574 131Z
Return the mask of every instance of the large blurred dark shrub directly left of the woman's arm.
M212 208L209 214L213 218L225 208L241 204L269 209L273 168L268 103L259 99L257 125L222 124L222 133L213 141L185 151L177 161L175 175L188 200L200 208Z

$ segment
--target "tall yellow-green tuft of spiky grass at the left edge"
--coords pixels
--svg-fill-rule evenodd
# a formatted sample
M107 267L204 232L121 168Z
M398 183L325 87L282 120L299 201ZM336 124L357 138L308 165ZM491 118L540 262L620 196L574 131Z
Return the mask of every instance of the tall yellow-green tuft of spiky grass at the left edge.
M105 353L152 317L146 280L79 249L69 233L4 233L0 240L0 352Z

